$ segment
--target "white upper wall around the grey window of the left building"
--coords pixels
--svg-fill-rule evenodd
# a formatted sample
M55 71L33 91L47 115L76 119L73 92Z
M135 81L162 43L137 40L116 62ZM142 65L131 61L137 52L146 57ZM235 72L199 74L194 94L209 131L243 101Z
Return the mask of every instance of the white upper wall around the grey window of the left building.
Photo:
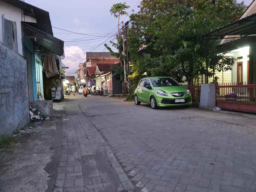
M21 9L13 5L0 1L0 16L4 14L4 18L16 21L17 25L17 41L18 41L18 53L22 53L22 29L21 29ZM31 16L25 16L26 22L36 23L36 19ZM0 21L0 41L3 42L3 31L2 31L2 19Z

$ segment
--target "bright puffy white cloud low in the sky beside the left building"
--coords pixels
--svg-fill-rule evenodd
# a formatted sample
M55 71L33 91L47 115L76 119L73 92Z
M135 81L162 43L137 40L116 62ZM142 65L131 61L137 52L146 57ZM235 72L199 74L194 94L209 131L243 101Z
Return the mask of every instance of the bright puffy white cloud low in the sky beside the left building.
M69 67L65 72L68 76L75 75L75 71L79 68L79 63L85 62L86 55L79 46L66 46L64 51L65 59L63 63Z

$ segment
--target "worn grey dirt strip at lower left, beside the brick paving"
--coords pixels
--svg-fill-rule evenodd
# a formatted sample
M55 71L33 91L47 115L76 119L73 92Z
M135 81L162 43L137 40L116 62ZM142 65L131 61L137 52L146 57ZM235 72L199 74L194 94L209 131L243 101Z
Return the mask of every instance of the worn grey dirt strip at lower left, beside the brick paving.
M44 168L51 161L58 118L40 124L29 124L11 137L8 147L1 149L0 191L45 191L51 177Z

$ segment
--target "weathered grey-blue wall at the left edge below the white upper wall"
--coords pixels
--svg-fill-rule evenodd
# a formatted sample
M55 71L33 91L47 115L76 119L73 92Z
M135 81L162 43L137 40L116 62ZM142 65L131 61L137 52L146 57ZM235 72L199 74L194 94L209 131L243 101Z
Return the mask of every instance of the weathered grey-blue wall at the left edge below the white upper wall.
M27 64L0 42L0 135L29 123Z

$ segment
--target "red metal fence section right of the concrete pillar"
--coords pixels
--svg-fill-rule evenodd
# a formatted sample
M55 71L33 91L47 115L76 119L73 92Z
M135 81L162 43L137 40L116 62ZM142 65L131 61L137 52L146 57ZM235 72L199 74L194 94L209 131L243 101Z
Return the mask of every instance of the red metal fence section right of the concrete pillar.
M228 110L256 112L256 85L223 83L216 86L216 106Z

